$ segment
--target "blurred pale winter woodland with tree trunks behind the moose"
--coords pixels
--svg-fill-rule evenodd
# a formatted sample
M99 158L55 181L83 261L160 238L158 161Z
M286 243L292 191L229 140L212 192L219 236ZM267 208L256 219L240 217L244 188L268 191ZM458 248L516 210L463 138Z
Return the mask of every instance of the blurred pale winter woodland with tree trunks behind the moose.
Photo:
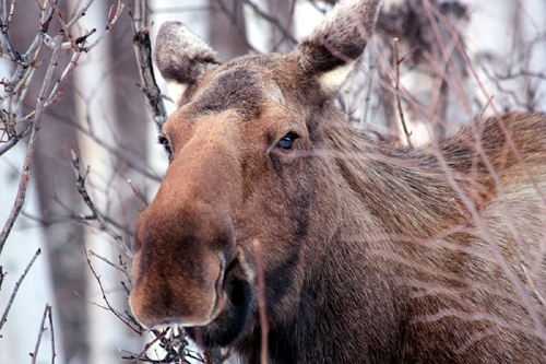
M334 3L0 1L0 228L14 221L0 239L0 363L50 363L51 342L58 363L128 363L122 357L155 338L140 331L127 303L134 220L167 167L142 92L135 31L149 33L153 46L161 23L179 20L227 61L289 52ZM55 56L50 39L61 28L66 46ZM34 55L34 44L46 46ZM51 59L57 67L45 87ZM168 86L155 77L168 115ZM347 122L378 142L422 144L482 114L544 111L545 78L544 0L383 0L375 37L339 103ZM55 97L40 106L43 86ZM154 348L150 357L166 355Z

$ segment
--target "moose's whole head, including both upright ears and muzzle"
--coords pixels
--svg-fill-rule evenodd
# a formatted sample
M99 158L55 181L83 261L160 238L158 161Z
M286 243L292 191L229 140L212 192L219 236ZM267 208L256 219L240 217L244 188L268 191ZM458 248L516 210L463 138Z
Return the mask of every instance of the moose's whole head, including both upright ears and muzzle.
M316 152L371 32L369 7L336 7L289 55L224 66L180 23L162 26L155 61L182 93L161 136L169 168L135 226L130 304L142 325L181 325L204 347L236 342L257 318L254 242L270 322L295 315L302 247L319 238L318 184L331 173Z

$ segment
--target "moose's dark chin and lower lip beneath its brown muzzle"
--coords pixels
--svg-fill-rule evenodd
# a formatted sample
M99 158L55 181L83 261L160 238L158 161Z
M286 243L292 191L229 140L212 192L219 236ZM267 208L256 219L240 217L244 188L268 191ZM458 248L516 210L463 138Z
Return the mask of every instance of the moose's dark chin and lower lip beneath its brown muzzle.
M205 326L186 327L186 333L200 347L230 347L241 338L250 318L252 291L242 279L241 268L234 262L224 279L225 301L219 315Z

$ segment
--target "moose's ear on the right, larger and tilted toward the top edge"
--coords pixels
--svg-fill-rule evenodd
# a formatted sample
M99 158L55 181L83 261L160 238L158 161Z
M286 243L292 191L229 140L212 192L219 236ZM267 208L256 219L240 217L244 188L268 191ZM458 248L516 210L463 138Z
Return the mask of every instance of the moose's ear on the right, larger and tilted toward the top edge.
M337 92L353 72L376 25L381 0L345 0L330 11L295 50L308 75Z

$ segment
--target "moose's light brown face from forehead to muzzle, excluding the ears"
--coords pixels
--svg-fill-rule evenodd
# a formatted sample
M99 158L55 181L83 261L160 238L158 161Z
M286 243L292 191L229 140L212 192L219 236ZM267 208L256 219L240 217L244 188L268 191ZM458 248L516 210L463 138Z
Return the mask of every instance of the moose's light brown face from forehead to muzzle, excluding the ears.
M305 225L294 211L297 179L310 143L263 62L217 68L164 126L170 165L133 243L130 304L145 327L228 320L242 331L254 304L254 239L280 251L266 258L271 269L290 261L290 285L299 259L290 245Z

